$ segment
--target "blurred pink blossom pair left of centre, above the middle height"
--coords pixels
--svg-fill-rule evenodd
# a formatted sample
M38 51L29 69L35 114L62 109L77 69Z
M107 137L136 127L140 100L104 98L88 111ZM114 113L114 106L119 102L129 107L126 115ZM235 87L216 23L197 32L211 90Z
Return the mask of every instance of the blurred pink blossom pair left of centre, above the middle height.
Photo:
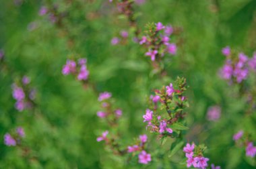
M80 58L77 63L74 60L67 60L63 66L62 74L73 74L77 76L77 80L87 80L89 71L86 66L86 58Z

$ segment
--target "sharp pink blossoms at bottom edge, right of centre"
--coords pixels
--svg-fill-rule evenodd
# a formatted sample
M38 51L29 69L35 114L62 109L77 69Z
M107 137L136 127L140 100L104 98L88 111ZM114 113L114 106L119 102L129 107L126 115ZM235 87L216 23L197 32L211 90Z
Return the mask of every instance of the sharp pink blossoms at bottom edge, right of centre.
M194 168L206 168L208 166L207 161L209 161L209 158L203 157L201 154L194 154L195 144L187 144L183 148L183 152L186 153L187 157L187 167L193 166Z

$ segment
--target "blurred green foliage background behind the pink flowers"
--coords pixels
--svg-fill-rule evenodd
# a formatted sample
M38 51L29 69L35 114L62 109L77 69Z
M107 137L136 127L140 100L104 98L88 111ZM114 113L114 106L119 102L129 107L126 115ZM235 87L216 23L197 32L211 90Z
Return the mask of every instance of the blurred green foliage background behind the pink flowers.
M218 76L225 60L224 46L248 56L256 51L255 0L146 0L136 5L142 30L146 23L158 21L182 30L176 39L178 54L168 62L170 78L164 80L152 75L145 49L133 42L133 35L129 34L125 46L110 44L121 30L129 29L127 20L107 0L0 0L0 4L0 48L9 68L0 67L0 168L186 168L179 164L182 150L178 159L163 157L160 162L153 156L151 166L127 164L125 158L104 150L104 144L96 142L107 128L96 116L98 96L72 76L61 74L72 55L88 59L90 80L98 91L113 93L123 110L120 130L125 133L125 145L148 133L141 122L152 89L185 76L190 104L188 142L205 144L210 164L255 168L244 148L234 146L232 135L245 129L256 140L256 116L245 117L245 99L239 97L237 87ZM42 5L57 5L57 12L65 13L62 25L39 16ZM11 84L23 75L30 76L37 91L34 112L14 108ZM222 107L220 121L207 121L205 114L211 105ZM3 144L3 135L17 126L26 131L28 157Z

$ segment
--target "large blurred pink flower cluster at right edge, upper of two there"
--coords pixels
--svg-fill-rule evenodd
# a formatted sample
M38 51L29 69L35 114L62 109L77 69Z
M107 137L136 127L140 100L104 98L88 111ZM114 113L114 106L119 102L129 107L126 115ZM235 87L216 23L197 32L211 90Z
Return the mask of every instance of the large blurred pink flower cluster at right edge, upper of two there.
M236 79L241 83L247 79L249 70L256 71L256 54L249 59L243 52L238 54L238 58L233 58L230 48L227 46L222 49L222 54L226 56L226 63L220 69L220 76L226 80Z

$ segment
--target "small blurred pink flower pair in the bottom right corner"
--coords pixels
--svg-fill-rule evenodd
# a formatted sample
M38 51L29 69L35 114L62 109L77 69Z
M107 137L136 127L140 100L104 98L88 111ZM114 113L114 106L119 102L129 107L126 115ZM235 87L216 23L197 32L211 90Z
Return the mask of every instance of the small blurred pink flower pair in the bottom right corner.
M243 130L238 131L238 133L235 133L233 135L233 140L235 142L239 142L239 141L243 142L243 145L246 145L246 148L245 148L246 156L254 158L256 156L256 147L253 146L253 142L248 142L247 140L242 139L243 134L244 134Z

